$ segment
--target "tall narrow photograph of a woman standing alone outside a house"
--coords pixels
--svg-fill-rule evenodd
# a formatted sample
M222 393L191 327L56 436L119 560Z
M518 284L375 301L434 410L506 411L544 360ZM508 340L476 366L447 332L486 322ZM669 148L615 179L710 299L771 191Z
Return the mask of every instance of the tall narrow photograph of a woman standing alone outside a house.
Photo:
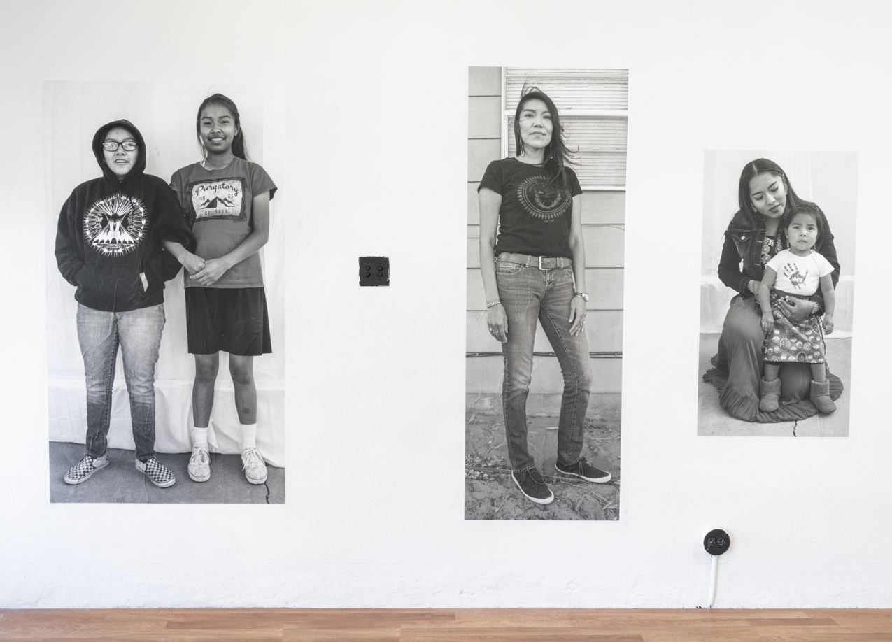
M468 70L466 520L618 520L624 69Z

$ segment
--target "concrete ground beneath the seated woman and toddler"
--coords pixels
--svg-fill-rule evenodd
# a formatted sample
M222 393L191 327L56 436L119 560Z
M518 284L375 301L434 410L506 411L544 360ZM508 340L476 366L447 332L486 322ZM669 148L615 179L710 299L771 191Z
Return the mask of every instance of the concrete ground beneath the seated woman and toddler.
M700 437L848 437L849 384L852 381L852 339L826 337L830 372L842 380L842 396L831 415L810 416L796 422L757 424L735 419L719 406L719 393L712 383L703 381L703 373L712 365L709 359L718 350L718 334L700 334L699 412L697 434Z

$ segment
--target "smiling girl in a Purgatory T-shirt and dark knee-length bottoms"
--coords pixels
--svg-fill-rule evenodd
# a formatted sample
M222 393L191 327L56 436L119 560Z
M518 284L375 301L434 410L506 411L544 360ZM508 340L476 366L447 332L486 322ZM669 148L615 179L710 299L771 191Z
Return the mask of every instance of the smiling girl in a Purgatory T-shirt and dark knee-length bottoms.
M257 449L253 358L272 352L272 345L258 251L269 240L269 202L277 187L260 165L248 161L242 122L230 98L214 94L204 99L195 131L204 159L179 169L170 185L197 247L193 253L182 243L164 243L186 268L186 332L195 356L188 472L193 481L211 479L208 432L223 351L235 385L244 476L261 484L267 481L267 466Z

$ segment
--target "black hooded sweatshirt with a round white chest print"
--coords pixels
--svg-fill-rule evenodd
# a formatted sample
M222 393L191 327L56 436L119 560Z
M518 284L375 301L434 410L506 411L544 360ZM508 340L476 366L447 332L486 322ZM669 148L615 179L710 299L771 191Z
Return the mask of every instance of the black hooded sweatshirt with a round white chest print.
M126 129L138 145L136 162L121 180L103 153L112 128ZM132 123L103 125L92 147L103 176L78 185L62 206L55 246L59 271L77 286L75 299L87 308L123 312L158 305L164 282L180 270L161 241L192 249L194 236L169 186L144 173L145 141Z

